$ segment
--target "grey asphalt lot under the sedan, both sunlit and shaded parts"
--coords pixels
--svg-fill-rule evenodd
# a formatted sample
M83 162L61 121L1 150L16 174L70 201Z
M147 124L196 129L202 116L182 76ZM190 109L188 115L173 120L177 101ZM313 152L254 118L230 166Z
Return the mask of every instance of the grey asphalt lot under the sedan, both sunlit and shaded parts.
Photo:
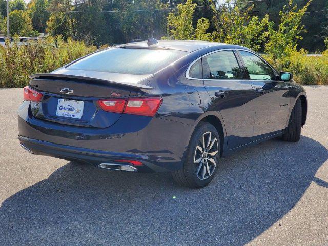
M328 86L306 87L298 143L223 157L212 183L100 170L17 140L22 89L0 89L0 245L328 245Z

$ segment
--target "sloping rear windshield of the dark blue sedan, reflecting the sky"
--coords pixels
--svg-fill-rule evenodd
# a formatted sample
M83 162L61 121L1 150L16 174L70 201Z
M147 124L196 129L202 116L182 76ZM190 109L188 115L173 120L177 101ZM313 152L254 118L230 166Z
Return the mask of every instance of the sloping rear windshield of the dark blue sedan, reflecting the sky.
M153 74L188 54L180 50L113 48L97 52L67 69L124 74Z

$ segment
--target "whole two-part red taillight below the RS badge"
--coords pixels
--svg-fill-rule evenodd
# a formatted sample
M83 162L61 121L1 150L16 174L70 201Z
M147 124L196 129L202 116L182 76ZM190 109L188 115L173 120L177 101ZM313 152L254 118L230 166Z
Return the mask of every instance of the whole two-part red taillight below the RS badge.
M107 112L154 116L162 101L161 97L108 99L99 100L98 105Z

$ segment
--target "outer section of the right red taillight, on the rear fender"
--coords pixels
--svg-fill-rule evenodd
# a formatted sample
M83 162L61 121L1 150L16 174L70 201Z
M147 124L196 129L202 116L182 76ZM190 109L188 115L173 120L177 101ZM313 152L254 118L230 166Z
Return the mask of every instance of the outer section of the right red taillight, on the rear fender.
M133 98L129 99L124 113L145 116L154 116L161 105L161 97Z

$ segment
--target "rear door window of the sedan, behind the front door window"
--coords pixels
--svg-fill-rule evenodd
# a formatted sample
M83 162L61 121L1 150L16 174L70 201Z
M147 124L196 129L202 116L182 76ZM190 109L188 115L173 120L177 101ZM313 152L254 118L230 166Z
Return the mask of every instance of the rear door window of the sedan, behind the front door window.
M242 79L232 50L218 51L202 58L204 79Z

